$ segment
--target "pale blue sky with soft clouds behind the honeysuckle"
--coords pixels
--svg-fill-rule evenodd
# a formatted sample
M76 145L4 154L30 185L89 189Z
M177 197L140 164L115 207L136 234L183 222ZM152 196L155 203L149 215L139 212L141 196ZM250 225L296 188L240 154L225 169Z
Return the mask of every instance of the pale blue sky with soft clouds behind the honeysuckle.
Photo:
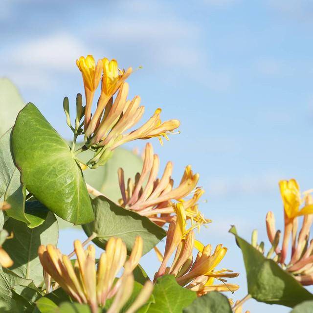
M163 165L174 162L176 179L187 164L200 173L201 210L214 222L199 238L229 247L223 266L242 273L237 299L246 282L229 225L246 238L257 227L266 239L266 212L282 217L278 180L313 187L312 17L305 0L2 0L0 75L69 138L62 101L83 91L77 57L143 66L129 79L131 95L146 116L161 107L164 120L180 119L181 134L163 147L152 142ZM65 249L84 238L65 234ZM265 305L251 300L245 309Z

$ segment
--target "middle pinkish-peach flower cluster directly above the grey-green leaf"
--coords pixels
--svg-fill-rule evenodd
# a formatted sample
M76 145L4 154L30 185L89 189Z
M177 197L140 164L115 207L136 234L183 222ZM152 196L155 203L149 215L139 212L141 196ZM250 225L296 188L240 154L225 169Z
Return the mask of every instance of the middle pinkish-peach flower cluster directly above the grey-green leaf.
M122 198L119 204L140 215L147 216L156 224L162 226L175 218L172 201L180 201L188 219L192 224L206 224L206 220L198 209L197 202L204 191L197 187L199 174L193 174L191 166L185 168L179 186L173 187L171 178L173 163L167 162L161 179L157 178L159 171L159 157L154 154L150 143L146 144L141 173L137 173L134 180L125 183L124 171L118 169L118 180ZM183 199L192 195L191 199Z

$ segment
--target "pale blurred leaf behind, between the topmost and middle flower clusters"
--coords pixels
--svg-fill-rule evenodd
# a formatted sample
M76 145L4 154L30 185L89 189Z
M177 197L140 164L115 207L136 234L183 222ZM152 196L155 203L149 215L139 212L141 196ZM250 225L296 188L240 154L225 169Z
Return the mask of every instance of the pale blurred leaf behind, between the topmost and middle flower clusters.
M80 154L79 157L87 162L93 157L93 154L92 151L87 150ZM96 169L86 169L84 171L84 178L92 187L117 203L122 198L117 170L120 167L123 168L125 178L134 179L136 173L141 172L142 164L143 161L140 156L135 155L130 150L117 148L104 166L99 166Z

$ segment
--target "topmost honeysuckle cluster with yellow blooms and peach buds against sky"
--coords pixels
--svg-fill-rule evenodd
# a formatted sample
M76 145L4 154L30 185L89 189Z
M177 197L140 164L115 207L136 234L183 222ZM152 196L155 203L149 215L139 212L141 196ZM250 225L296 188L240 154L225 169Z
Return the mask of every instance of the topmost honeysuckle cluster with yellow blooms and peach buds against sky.
M133 69L130 67L126 71L121 70L116 60L109 61L107 58L98 60L96 64L91 55L80 57L76 64L82 72L86 95L85 145L95 151L95 156L88 162L91 168L104 164L111 157L112 151L126 142L158 137L162 143L162 137L168 139L167 135L179 127L179 120L176 119L162 123L161 109L156 109L147 122L130 131L139 122L145 110L144 106L139 106L139 96L132 100L127 99L129 85L125 80ZM101 93L96 110L91 115L93 97L100 79Z

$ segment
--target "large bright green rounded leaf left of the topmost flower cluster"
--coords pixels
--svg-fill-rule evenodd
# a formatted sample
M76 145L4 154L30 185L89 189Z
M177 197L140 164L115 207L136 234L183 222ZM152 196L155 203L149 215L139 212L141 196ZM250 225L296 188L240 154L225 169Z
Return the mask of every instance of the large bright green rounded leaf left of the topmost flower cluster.
M12 149L21 181L36 199L71 223L93 220L89 194L74 155L32 103L16 119Z

